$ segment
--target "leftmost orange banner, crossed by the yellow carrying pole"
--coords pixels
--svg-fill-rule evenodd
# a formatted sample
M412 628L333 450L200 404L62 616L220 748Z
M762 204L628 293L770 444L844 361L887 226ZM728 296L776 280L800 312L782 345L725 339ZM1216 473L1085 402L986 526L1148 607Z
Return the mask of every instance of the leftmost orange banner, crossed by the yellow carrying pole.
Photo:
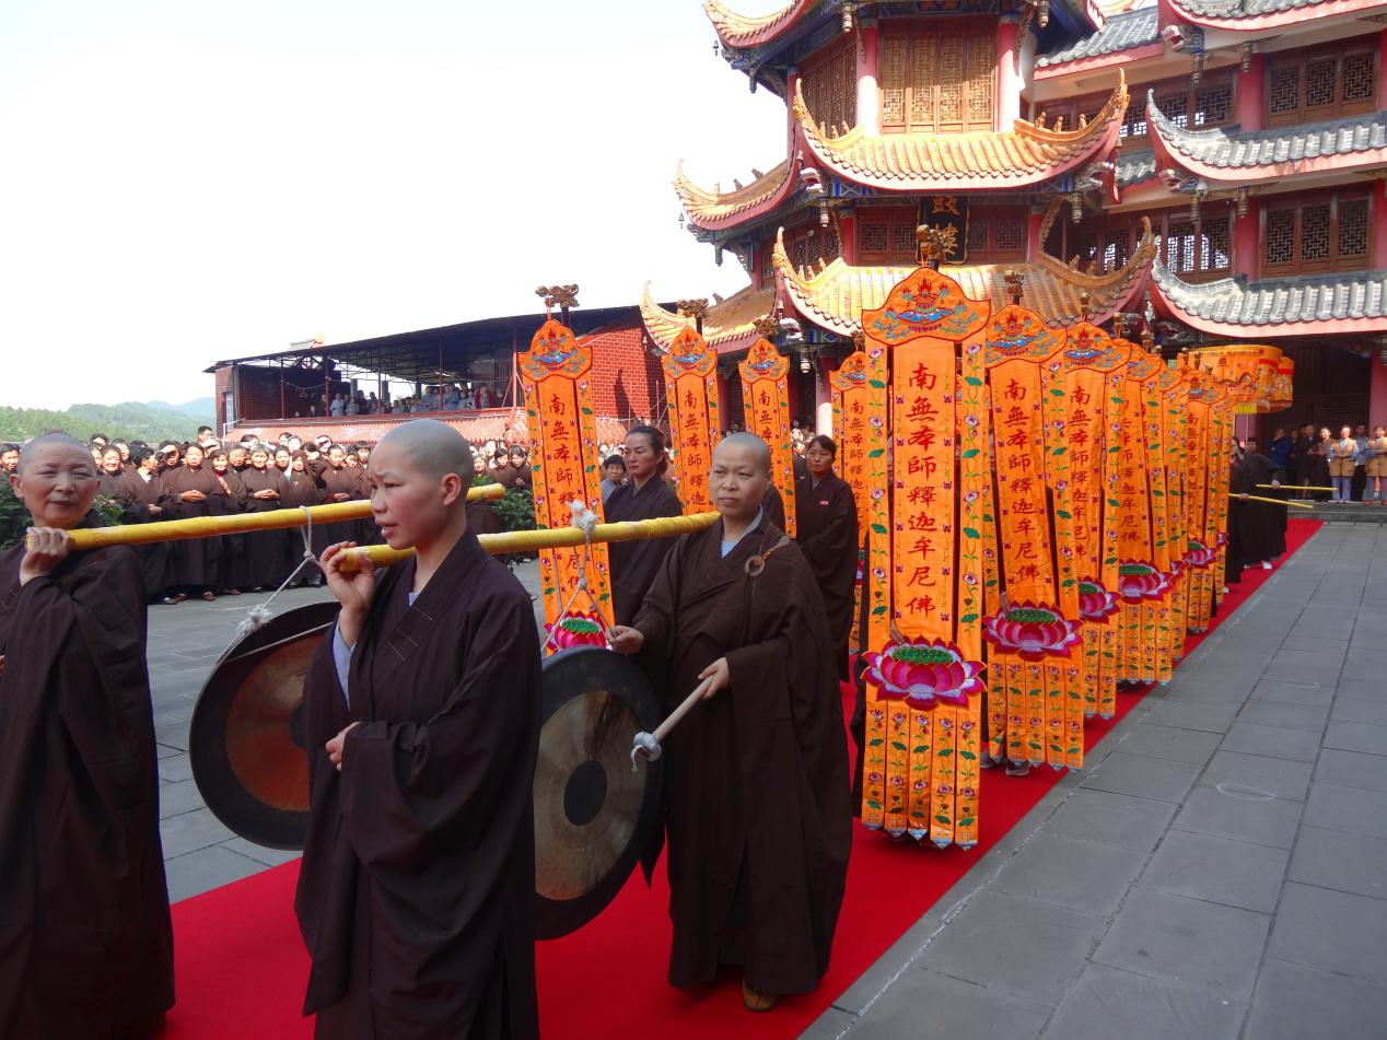
M589 370L592 351L553 319L534 334L520 355L526 413L534 447L530 452L534 488L534 521L540 528L570 527L573 502L602 513L601 474L596 467L596 419L592 413ZM583 551L542 549L540 577L544 613L549 624L559 617L578 587ZM588 589L595 606L612 621L612 588L606 545L588 555ZM578 610L591 605L577 602Z

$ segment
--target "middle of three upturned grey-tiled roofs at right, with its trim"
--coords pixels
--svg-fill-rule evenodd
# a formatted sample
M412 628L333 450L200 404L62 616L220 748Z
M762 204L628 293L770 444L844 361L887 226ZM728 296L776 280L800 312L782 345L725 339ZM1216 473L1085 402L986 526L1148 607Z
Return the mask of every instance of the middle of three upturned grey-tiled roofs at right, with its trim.
M1387 112L1273 130L1186 130L1171 122L1148 93L1146 116L1157 161L1207 180L1251 184L1294 173L1387 165Z

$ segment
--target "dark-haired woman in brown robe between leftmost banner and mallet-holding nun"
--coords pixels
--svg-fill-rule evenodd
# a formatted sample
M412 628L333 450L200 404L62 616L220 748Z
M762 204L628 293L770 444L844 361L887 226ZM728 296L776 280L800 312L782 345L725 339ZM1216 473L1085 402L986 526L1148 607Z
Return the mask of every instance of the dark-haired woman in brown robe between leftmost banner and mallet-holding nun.
M609 524L621 520L653 520L659 516L681 516L684 506L678 495L664 481L670 458L664 449L664 434L653 426L637 426L626 435L626 484L616 488L603 506ZM641 609L645 591L655 581L666 553L674 545L671 538L648 538L638 542L612 542L608 559L612 563L612 609L616 623L631 624Z

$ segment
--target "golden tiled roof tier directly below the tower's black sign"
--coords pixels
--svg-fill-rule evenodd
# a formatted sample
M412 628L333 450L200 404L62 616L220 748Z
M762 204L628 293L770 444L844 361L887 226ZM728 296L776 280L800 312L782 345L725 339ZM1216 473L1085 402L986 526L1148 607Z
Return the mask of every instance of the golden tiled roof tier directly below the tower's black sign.
M1155 236L1143 218L1143 234L1132 259L1104 275L1083 275L1047 254L1025 263L942 265L939 270L954 279L974 300L990 300L1001 309L1011 302L1007 284L1010 273L1022 277L1022 305L1036 311L1047 324L1065 327L1080 320L1080 297L1089 294L1087 313L1094 324L1121 311L1144 281L1155 257ZM818 272L799 272L785 252L784 232L773 252L775 270L784 279L795 309L829 331L852 336L860 329L861 312L882 306L892 287L913 266L849 266L842 258Z

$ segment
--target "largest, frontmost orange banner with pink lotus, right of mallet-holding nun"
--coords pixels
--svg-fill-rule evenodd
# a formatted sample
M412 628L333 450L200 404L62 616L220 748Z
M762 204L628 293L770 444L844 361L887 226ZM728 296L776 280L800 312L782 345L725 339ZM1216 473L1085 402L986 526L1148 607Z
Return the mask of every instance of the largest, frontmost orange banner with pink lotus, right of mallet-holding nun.
M990 451L976 348L989 311L922 268L882 308L863 312L871 532L863 822L940 847L978 840Z

